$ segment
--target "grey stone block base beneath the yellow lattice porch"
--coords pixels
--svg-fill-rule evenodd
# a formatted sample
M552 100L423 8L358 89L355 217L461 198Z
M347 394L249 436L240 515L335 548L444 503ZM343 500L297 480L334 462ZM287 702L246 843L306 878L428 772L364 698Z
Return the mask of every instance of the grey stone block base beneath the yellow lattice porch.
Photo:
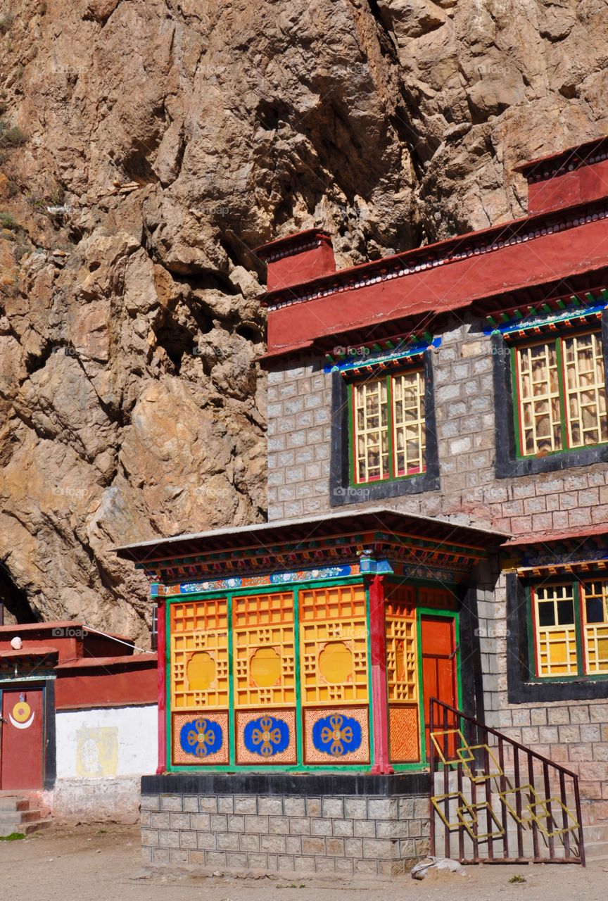
M429 851L428 796L141 796L150 864L383 877Z

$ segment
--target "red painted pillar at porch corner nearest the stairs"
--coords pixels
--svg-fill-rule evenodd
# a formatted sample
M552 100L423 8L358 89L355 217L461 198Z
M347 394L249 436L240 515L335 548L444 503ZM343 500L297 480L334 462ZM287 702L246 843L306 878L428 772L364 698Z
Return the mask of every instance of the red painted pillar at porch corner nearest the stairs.
M372 705L374 715L373 773L393 773L388 755L388 693L386 691L385 590L383 576L369 585Z

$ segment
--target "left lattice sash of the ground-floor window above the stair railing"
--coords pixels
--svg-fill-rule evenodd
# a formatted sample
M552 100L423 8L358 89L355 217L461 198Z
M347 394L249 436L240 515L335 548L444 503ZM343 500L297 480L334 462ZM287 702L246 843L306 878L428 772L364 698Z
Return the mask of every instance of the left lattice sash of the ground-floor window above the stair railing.
M533 591L539 676L576 676L575 598L572 585Z

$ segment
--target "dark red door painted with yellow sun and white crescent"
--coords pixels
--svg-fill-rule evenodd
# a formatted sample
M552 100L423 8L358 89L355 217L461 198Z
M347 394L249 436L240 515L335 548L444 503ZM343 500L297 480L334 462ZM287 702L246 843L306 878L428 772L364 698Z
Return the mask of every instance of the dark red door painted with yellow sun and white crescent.
M41 688L3 688L0 789L41 788L44 716Z

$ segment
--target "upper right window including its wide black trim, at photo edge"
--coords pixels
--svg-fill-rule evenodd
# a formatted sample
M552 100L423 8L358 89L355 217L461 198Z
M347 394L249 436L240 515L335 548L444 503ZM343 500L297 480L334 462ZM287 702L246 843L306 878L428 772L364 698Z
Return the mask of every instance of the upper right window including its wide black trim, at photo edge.
M496 478L608 462L608 310L533 322L492 334Z

